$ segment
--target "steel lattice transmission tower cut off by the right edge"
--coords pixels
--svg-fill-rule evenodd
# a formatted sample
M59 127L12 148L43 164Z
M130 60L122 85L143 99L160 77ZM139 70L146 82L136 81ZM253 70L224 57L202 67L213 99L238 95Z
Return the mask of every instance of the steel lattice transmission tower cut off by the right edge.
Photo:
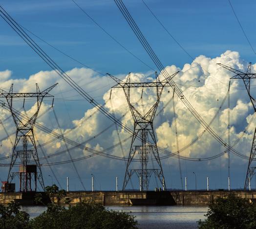
M250 62L247 68L247 71L241 72L239 70L236 70L234 68L231 68L229 66L226 66L224 64L221 63L217 63L218 65L226 68L229 71L232 71L235 73L235 76L231 77L230 79L242 79L244 82L244 85L246 87L246 90L248 92L249 98L251 100L251 103L253 104L254 107L254 112L256 112L256 100L253 98L251 92L250 92L250 83L251 83L251 79L255 79L256 78L256 73L251 73L251 65L252 63ZM248 188L249 186L249 182L252 179L252 177L255 175L254 172L254 168L252 167L252 162L256 160L256 128L254 130L254 138L253 138L253 144L252 144L252 148L251 148L251 153L250 153L250 158L249 158L249 162L248 162L248 168L247 168L247 174L246 174L246 178L245 178L245 184L244 184L244 189Z

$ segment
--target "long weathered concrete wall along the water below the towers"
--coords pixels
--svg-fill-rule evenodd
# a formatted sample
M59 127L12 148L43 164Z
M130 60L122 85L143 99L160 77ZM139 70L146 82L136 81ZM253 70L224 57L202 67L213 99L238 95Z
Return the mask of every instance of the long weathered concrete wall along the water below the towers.
M42 192L41 192L42 193ZM103 205L209 205L217 197L225 197L229 193L236 196L256 200L256 191L70 191L67 192L71 203L81 201L95 202ZM11 201L21 205L34 205L35 192L0 193L0 203ZM47 197L43 199L47 202ZM54 199L57 202L57 198ZM64 199L61 200L64 204Z

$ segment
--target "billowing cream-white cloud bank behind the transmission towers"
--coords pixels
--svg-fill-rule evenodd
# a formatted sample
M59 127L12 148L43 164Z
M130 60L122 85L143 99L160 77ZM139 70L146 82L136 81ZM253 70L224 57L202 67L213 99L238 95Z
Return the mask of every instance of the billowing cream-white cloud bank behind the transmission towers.
M199 56L195 58L192 63L186 63L182 69L171 65L167 66L166 69L170 74L176 71L180 73L175 76L174 81L180 86L186 98L190 101L197 112L203 117L203 119L209 123L213 116L218 111L218 107L222 103L229 86L230 78L233 74L226 69L218 66L216 63L223 63L230 67L246 71L248 62L240 59L239 53L233 51L226 51L221 54L220 57L207 58L205 56ZM252 71L256 71L256 64L252 65ZM105 104L106 108L115 114L117 118L121 118L122 122L128 125L130 128L133 127L133 120L128 109L127 101L123 90L113 89L110 97L110 87L114 82L107 77L100 77L96 72L85 69L85 68L74 68L67 72L72 79L82 85L85 91L91 94L95 99L101 100ZM121 79L125 78L125 75L119 75ZM163 77L159 76L160 80L164 80ZM154 81L154 74L144 73L131 73L131 82L145 82ZM85 144L88 147L95 148L97 150L106 149L109 146L119 144L119 138L116 132L116 127L106 117L97 112L93 107L90 107L87 102L80 101L81 98L71 90L71 88L64 82L61 81L59 76L54 71L40 71L35 75L30 76L28 79L12 79L12 73L9 70L0 72L0 83L1 88L8 90L11 83L14 83L14 89L16 91L34 91L35 83L38 83L40 88L46 88L48 85L59 82L59 87L55 89L52 94L55 95L55 110L58 114L59 121L61 124L62 131L67 138L70 138L79 143L87 141ZM252 82L252 92L255 88L255 83ZM155 90L149 89L143 91L143 99L141 99L141 89L134 89L131 91L131 100L134 105L143 112L147 112L147 107L153 104L155 101ZM174 131L174 119L173 119L173 105L171 87L166 87L162 94L162 99L159 104L157 115L155 117L154 127L157 135L158 146L168 149L171 152L176 152L176 137ZM65 102L64 102L65 101ZM180 148L187 146L197 136L204 131L204 128L196 121L189 110L184 106L179 98L174 96L175 108L177 114L177 129L178 139ZM250 120L252 120L253 109L250 104L248 94L245 90L244 84L240 80L233 80L231 82L230 89L230 124L231 124L231 144L243 133L244 129L248 127ZM17 107L22 110L22 102L16 103ZM142 103L143 102L143 106ZM30 108L26 111L29 115L32 110L35 109L32 102ZM32 106L32 107L31 107ZM41 108L41 114L43 114L38 122L46 125L54 131L61 133L58 129L54 116L51 112L51 102L44 102ZM68 110L69 116L67 115L66 109L69 107L75 107L75 109ZM24 112L24 111L23 111ZM3 126L0 125L0 138L1 156L10 155L12 150L12 143L14 141L15 127L8 111L0 109L0 120L4 125L7 132L11 135L10 138L6 138L6 132ZM82 118L81 118L82 117ZM70 118L70 119L69 119ZM248 127L248 131L244 133L243 138L238 142L235 148L243 153L249 154L251 141L253 138L253 131L256 122L252 121ZM78 126L74 130L74 126ZM211 127L218 133L224 140L228 139L228 108L227 100L218 112L214 119ZM109 127L109 128L108 128ZM103 131L105 130L105 131ZM124 152L122 152L120 146L116 146L111 150L107 151L109 154L118 155L120 157L128 156L130 139L124 141L129 137L128 133L118 127L118 133L120 134L122 146ZM100 135L99 135L100 134ZM37 138L40 144L43 144L52 139L51 136L43 133L42 131L36 130ZM98 136L99 135L99 136ZM246 146L246 147L245 147ZM71 147L71 146L68 146ZM64 143L60 140L56 140L50 144L43 146L44 151L50 155L55 152L65 150ZM224 151L224 147L220 146L213 137L205 132L202 137L199 138L191 147L186 150L181 150L181 155L193 158L204 158L218 154ZM39 149L40 154L41 149ZM74 148L71 150L73 158L81 157L82 155L88 155L89 153L81 149ZM124 153L124 155L123 155ZM164 156L164 154L160 154ZM221 166L225 167L227 155L224 154L221 160ZM68 160L66 153L60 154L56 157L49 158L49 161L62 161ZM91 171L91 169L99 169L102 167L124 169L122 162L116 162L108 160L104 157L96 156L88 159L89 162L84 162L86 167L82 163L78 164L82 171ZM7 160L5 161L8 162ZM42 161L45 163L45 161ZM173 167L177 166L177 161L169 158L162 162L164 165L170 164ZM237 157L232 157L232 164L242 165L246 167L247 161L241 160ZM69 169L71 165L67 165L65 168ZM208 168L216 169L219 168L219 161L216 160L208 162ZM71 171L71 170L70 170ZM62 171L63 172L63 171Z

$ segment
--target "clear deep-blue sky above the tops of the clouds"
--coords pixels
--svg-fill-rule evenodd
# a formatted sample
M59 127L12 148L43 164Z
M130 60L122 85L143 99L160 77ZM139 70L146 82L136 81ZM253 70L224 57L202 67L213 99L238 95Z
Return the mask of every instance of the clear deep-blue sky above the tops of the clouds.
M255 1L231 2L255 46ZM113 1L78 0L77 3L128 50L155 68ZM125 3L164 65L175 64L182 67L184 63L192 61L152 17L142 1ZM253 61L255 58L228 0L146 0L146 3L192 57L201 54L214 57L226 50L234 50L245 60ZM3 0L2 5L21 25L103 73L150 70L109 38L71 0ZM14 76L27 77L39 70L48 69L3 20L0 21L0 28L0 70L11 69ZM64 70L79 67L78 63L38 42Z

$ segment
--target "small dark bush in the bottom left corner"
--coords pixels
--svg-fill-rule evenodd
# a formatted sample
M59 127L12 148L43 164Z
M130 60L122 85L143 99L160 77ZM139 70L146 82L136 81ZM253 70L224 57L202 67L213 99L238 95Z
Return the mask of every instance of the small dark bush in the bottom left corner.
M0 228L28 229L29 214L20 209L15 202L9 203L7 207L0 204Z

